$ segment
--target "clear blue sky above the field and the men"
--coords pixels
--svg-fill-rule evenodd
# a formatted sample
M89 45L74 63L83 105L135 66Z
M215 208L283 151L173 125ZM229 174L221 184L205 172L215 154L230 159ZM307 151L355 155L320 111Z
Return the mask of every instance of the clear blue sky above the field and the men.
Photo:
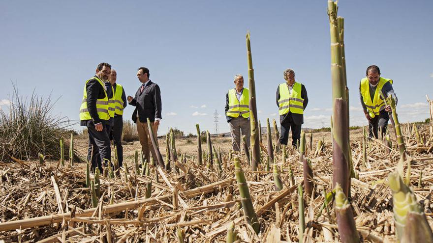
M99 62L113 65L127 95L140 85L137 68L146 66L162 93L159 134L168 127L195 134L196 123L213 132L215 110L220 132L228 132L225 93L235 74L247 81L249 29L262 126L267 117L278 120L275 92L286 68L308 90L304 127L329 126L326 7L326 0L0 0L0 106L7 107L15 82L21 95L34 89L40 96L61 97L54 112L78 120L84 82ZM367 124L358 85L371 64L394 80L401 122L429 117L432 12L432 0L340 0L352 126ZM132 111L125 109L125 120Z

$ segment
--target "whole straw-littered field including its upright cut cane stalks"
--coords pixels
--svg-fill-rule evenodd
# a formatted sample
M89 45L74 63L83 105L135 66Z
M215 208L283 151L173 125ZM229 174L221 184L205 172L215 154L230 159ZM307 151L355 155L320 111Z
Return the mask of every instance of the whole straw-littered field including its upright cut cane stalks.
M85 163L8 156L14 162L0 162L0 242L433 242L433 102L428 99L429 126L399 124L388 97L396 124L389 137L367 140L357 129L347 140L344 31L336 2L328 1L328 14L338 62L332 65L332 137L307 135L314 140L301 139L298 152L273 146L278 135L269 134L260 144L255 140L249 157L246 146L245 154L232 153L230 139L211 140L209 132L179 139L172 130L158 141L159 150L153 140L159 166L139 161L139 143L125 139L124 167L108 167L100 176L86 173ZM254 100L249 33L247 50ZM133 132L127 124L125 133ZM254 126L252 136L257 132ZM5 134L3 148L14 138ZM87 138L75 140L72 147L86 154Z

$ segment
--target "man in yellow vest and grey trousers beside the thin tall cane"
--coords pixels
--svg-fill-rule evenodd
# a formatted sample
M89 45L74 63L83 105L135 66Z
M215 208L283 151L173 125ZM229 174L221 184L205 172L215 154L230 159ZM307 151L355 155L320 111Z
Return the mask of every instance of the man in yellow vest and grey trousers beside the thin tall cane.
M235 75L235 88L230 89L225 95L225 116L230 124L232 135L232 147L234 151L241 150L241 132L245 135L249 148L249 90L244 88L244 77Z

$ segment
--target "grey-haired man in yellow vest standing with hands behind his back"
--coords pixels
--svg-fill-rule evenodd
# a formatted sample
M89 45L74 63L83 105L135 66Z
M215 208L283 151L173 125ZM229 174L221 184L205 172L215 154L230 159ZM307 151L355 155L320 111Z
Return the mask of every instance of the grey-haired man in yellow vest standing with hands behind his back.
M287 145L289 130L292 129L292 145L297 148L301 138L301 126L304 123L304 109L308 105L307 89L304 84L295 81L295 72L286 69L283 73L285 82L277 88L277 106L281 135L279 143Z

